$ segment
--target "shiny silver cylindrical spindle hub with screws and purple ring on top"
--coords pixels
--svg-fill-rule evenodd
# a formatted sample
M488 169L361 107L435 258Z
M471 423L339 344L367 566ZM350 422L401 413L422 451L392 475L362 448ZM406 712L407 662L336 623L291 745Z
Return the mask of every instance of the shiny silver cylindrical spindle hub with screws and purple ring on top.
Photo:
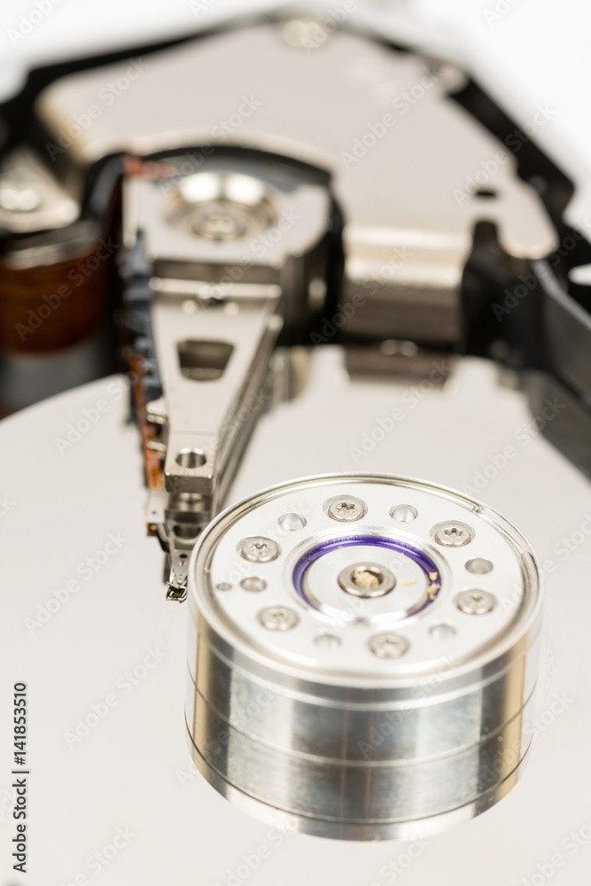
M299 480L217 517L189 582L192 755L246 812L411 838L517 781L540 579L494 510L407 478Z

